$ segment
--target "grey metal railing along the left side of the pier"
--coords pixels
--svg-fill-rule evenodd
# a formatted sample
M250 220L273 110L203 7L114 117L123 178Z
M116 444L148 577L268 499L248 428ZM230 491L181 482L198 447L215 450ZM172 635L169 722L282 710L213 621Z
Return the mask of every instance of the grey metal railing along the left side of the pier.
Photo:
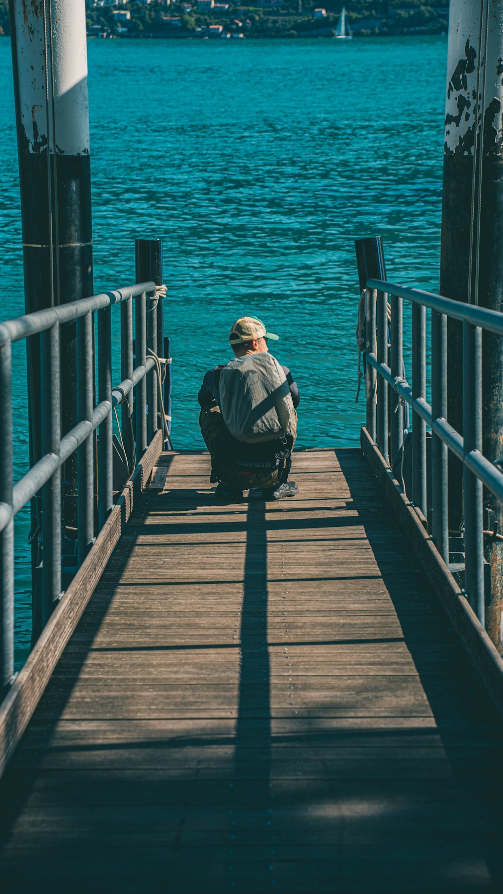
M133 352L132 302L135 301ZM158 430L158 382L149 350L162 357L158 344L158 300L155 283L80 299L39 310L0 324L0 684L13 678L14 537L13 519L36 494L42 501L42 626L62 594L61 468L77 451L77 567L90 550L113 506L113 420L121 406L123 423L132 419L135 392L136 456L147 449ZM112 385L112 308L121 307L122 382ZM94 315L97 316L98 402L95 400ZM60 328L76 325L77 422L61 435ZM41 456L13 484L12 342L40 337ZM159 333L159 338L161 333ZM95 460L95 438L98 448ZM131 436L131 435L130 435ZM98 529L95 502L98 494Z

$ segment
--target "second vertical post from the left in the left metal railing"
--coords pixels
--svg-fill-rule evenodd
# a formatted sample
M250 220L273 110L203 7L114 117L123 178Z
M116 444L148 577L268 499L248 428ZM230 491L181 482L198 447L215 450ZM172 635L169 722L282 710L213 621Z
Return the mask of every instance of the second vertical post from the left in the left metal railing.
M40 336L42 456L59 459L61 442L61 380L59 323ZM42 487L42 627L61 595L61 469Z

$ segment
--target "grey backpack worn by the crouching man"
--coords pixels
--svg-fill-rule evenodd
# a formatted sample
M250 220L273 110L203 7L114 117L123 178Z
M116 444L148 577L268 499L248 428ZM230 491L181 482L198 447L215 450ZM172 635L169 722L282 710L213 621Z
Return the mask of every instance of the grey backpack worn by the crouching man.
M272 354L245 354L220 371L220 409L238 441L275 441L288 434L294 401L285 371Z

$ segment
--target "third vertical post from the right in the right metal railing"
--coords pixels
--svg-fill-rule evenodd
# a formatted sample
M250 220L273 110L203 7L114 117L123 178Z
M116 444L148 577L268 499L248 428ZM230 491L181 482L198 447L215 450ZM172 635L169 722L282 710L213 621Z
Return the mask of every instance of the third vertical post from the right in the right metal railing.
M426 397L426 308L412 306L413 400ZM413 504L426 518L426 423L413 411Z

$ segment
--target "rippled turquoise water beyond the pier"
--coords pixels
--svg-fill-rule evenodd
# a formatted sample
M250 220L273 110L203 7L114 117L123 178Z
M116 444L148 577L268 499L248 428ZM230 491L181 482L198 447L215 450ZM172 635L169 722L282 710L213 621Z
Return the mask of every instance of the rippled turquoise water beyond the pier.
M447 38L90 41L95 291L130 283L161 236L175 447L200 447L197 390L237 316L264 319L302 394L298 444L358 443L353 240L380 234L388 278L437 291ZM0 39L2 307L22 312L11 53ZM16 472L26 461L15 350ZM29 519L16 628L29 635Z

